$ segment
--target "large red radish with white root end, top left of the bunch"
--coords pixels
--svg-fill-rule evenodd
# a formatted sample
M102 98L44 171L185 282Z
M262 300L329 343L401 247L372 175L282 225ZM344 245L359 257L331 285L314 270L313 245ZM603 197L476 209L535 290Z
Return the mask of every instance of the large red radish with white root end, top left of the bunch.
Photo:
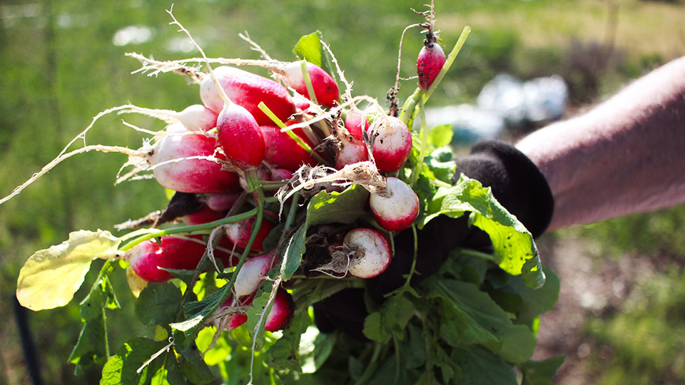
M295 104L290 98L288 89L279 83L229 66L214 68L213 72L228 98L248 110L260 125L273 124L273 120L259 109L258 105L261 101L281 121L288 120L295 113ZM223 110L223 98L210 76L205 76L200 84L200 98L210 110L217 113Z

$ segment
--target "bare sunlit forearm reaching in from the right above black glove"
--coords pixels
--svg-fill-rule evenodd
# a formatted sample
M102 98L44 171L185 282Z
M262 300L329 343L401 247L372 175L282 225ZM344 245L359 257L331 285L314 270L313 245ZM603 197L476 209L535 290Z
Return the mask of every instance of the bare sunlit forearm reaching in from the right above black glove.
M685 57L516 147L552 189L549 230L685 202Z

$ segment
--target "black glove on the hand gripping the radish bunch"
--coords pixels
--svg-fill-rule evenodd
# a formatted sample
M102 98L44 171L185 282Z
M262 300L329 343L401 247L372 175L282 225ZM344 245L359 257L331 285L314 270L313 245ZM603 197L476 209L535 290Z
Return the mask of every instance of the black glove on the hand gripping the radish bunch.
M495 198L524 224L533 237L541 235L552 220L554 199L547 180L526 155L507 143L482 141L472 147L471 154L457 158L455 183L464 173L492 188ZM490 247L485 232L468 226L468 216L457 219L437 217L418 232L416 274L412 284L435 274L457 246L483 249ZM411 230L395 236L395 256L390 266L377 277L367 279L370 297L381 303L386 293L404 284L403 275L410 272L414 250ZM315 322L321 332L340 329L356 339L362 334L367 315L364 289L345 289L333 297L314 304Z

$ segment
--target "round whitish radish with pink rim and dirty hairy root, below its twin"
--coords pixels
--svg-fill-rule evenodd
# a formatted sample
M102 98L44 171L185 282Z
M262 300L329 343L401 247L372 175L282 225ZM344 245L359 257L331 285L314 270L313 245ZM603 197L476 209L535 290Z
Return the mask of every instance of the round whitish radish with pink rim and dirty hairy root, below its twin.
M372 278L385 272L392 260L390 242L377 230L357 227L350 230L342 240L347 245L360 247L360 257L352 262L350 274L360 278Z

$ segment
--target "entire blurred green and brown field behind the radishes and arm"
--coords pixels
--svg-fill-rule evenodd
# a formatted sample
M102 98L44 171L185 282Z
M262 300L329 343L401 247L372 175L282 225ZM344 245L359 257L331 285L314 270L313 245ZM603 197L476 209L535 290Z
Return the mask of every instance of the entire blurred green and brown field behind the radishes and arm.
M247 31L270 56L290 60L299 37L319 30L354 81L353 93L382 101L395 81L400 34L422 21L411 9L423 11L424 3L203 0L179 2L173 11L210 57L257 58L238 37ZM196 56L186 36L168 26L170 6L142 0L0 3L1 196L55 158L106 108L133 103L181 111L200 103L197 87L184 78L131 75L138 63L124 56ZM464 0L436 1L435 9L446 51L464 26L472 34L432 98L434 106L474 101L497 73L524 80L559 74L569 86L570 115L685 53L682 1ZM421 44L418 29L407 32L403 77L412 75ZM403 82L400 99L414 87L415 81ZM122 118L163 127L139 116L106 116L86 143L138 148L143 136ZM516 135L504 133L503 139ZM13 310L26 258L73 230L112 230L166 204L153 180L115 187L124 162L124 155L78 155L0 206L0 384L30 383ZM684 222L684 207L674 207L542 237L543 263L558 271L562 299L549 322L542 319L537 357L568 355L558 384L685 384ZM597 284L594 292L588 282ZM149 332L132 326L123 274L115 283L123 309L108 314L112 350L132 329ZM98 368L73 376L66 364L81 327L82 298L78 293L67 307L28 314L46 383L99 379Z

